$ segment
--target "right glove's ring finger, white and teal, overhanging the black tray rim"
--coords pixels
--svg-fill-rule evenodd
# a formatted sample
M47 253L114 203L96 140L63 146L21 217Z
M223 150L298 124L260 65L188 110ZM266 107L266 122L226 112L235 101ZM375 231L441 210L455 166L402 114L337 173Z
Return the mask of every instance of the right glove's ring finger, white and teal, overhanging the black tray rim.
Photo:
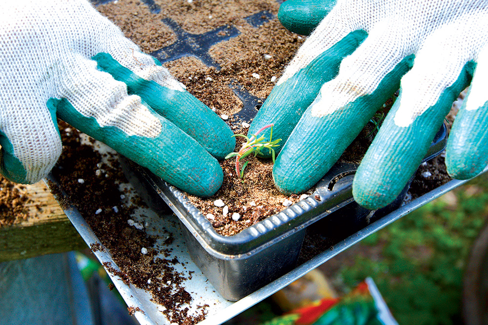
M472 53L455 51L469 44L454 35L448 29L433 33L417 53L412 70L402 78L400 97L354 177L354 199L363 207L384 207L400 194L452 102L469 84L474 68Z

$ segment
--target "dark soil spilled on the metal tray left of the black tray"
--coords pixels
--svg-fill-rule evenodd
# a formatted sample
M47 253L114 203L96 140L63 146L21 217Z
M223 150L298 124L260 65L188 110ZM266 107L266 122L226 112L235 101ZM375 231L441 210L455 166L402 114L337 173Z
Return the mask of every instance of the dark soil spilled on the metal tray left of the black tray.
M58 200L75 205L100 239L102 245L94 244L91 249L110 251L120 270L111 263L106 263L104 267L108 272L118 275L125 284L151 292L152 300L166 308L163 313L172 323L195 324L201 321L206 307L202 306L200 313L195 316L189 315L188 308L184 306L190 303L191 296L181 287L185 276L174 269L178 261L155 258L157 253L169 256L169 249L156 251L153 249L155 238L146 235L143 225L141 229L131 226L131 214L145 204L135 193L119 189L119 184L127 180L117 154L101 154L94 150L93 139L82 144L76 129L62 121L59 126L63 152L53 169L53 175L60 182L61 189L67 193L68 199L61 198L60 188L54 184L50 184L50 187ZM80 179L83 181L80 182ZM129 200L129 196L133 198ZM164 229L161 231L164 232ZM167 235L166 242L170 243L172 234L168 232ZM141 248L146 248L147 253L143 254Z

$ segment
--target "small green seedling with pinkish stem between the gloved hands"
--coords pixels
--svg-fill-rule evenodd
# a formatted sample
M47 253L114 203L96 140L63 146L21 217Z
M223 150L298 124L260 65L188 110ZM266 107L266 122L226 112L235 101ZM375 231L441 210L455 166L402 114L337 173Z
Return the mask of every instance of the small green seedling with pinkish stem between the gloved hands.
M261 152L264 148L269 150L269 153L271 153L271 157L273 159L273 163L275 161L275 151L273 147L278 147L278 143L281 141L281 139L276 139L273 141L273 125L274 124L269 124L261 129L259 129L256 134L251 134L250 137L244 134L234 134L233 136L241 136L244 139L246 139L246 142L242 145L241 149L237 153L229 153L228 155L225 156L225 159L229 159L232 157L236 157L236 174L239 176L239 178L243 179L244 177L244 169L246 168L247 164L249 163L249 160L247 160L243 167L240 168L240 162L241 159L247 157L249 154L254 153L254 156L264 156L264 154ZM258 134L260 134L263 130L266 130L267 128L270 129L270 134L269 134L269 140L266 140L264 138L264 135L261 135L258 138Z

